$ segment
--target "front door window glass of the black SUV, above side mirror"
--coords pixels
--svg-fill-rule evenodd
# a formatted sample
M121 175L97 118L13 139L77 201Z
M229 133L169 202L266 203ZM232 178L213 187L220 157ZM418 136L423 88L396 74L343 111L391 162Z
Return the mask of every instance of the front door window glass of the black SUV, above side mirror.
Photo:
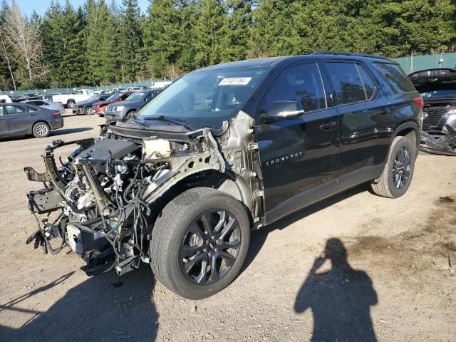
M304 63L286 69L274 81L266 100L266 108L278 100L299 101L304 112L326 108L325 92L316 63Z

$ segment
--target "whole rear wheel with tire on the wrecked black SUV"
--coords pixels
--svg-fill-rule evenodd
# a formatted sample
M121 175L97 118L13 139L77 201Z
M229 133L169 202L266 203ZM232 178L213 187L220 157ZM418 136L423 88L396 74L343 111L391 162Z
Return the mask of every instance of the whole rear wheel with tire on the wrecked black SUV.
M371 184L373 192L389 198L404 195L412 182L415 159L416 146L405 137L394 138L383 173Z

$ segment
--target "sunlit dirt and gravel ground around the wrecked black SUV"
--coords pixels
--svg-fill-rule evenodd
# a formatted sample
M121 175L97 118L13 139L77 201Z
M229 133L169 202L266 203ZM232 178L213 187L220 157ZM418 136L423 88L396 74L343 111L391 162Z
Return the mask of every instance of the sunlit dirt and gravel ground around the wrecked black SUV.
M49 142L102 122L0 140L0 341L456 341L456 157L420 155L400 199L361 186L254 232L234 283L189 301L147 264L88 278L68 249L25 244L40 184L23 167L43 172Z

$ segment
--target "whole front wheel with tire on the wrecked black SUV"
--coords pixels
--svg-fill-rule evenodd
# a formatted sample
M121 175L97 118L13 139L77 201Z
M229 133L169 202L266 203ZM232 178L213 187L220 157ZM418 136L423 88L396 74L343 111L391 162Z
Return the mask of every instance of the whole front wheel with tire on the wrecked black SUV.
M204 225L203 217L209 224ZM212 238L204 232L207 226ZM249 239L249 217L241 202L219 190L190 189L172 199L155 222L150 243L152 271L175 294L204 299L236 278Z

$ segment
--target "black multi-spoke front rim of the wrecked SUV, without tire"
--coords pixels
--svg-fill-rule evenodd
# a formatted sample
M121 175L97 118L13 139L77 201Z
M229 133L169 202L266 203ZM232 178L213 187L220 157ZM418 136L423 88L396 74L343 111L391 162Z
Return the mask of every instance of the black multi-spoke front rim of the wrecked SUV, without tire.
M232 268L240 245L241 229L234 215L208 210L187 229L180 249L182 270L195 284L213 284Z

